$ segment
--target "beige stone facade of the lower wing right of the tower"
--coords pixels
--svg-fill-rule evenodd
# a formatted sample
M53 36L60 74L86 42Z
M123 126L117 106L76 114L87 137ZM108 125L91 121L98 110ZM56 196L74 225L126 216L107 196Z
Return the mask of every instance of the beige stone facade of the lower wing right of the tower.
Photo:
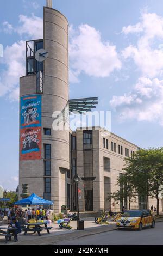
M91 139L89 139L89 134ZM126 141L114 133L105 131L101 127L93 129L77 129L72 133L76 138L76 150L72 150L72 160L76 159L76 173L82 178L79 182L79 210L80 211L120 211L124 202L109 202L108 194L119 190L117 179L123 174L124 158L139 150L137 145ZM88 137L84 144L84 137ZM91 144L89 144L91 143ZM71 170L73 169L71 165ZM73 175L72 175L73 176ZM84 180L83 180L84 178ZM85 178L87 178L85 180ZM93 178L91 180L91 178ZM72 185L73 180L71 181ZM75 190L75 188L74 188ZM89 195L89 198L87 198ZM72 193L70 208L73 209L75 194ZM156 206L156 200L149 198L149 206ZM146 208L145 199L132 199L131 209ZM160 210L162 205L160 202ZM75 209L73 209L75 210Z

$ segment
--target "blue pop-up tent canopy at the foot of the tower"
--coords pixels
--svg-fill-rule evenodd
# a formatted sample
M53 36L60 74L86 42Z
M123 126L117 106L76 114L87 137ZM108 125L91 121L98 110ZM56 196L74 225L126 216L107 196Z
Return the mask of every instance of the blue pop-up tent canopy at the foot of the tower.
M35 193L31 194L29 197L17 201L14 205L52 205L54 204L53 201L48 201L38 197Z

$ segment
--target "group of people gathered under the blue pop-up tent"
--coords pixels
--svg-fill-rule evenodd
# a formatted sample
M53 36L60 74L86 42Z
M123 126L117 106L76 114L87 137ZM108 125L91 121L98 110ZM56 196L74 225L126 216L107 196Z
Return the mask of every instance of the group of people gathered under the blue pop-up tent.
M49 220L51 215L51 212L48 209L44 208L37 208L36 210L33 208L32 210L30 208L26 209L24 212L22 208L12 208L8 211L8 224L16 218L19 220L20 218L24 218L26 222L29 220Z

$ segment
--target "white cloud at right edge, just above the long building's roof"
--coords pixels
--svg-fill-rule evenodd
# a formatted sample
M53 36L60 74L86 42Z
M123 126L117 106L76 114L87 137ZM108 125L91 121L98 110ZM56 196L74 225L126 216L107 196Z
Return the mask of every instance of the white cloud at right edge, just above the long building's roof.
M163 125L163 80L141 77L128 94L113 96L110 105L120 113L122 120L136 119Z

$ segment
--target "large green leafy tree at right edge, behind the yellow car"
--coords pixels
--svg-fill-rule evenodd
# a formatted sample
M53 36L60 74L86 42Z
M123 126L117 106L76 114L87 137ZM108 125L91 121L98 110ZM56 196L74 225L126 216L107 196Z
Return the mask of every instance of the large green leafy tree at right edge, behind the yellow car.
M142 149L134 157L125 159L125 174L135 191L141 196L151 196L157 200L159 215L159 187L163 184L163 148ZM149 203L147 203L149 208Z

